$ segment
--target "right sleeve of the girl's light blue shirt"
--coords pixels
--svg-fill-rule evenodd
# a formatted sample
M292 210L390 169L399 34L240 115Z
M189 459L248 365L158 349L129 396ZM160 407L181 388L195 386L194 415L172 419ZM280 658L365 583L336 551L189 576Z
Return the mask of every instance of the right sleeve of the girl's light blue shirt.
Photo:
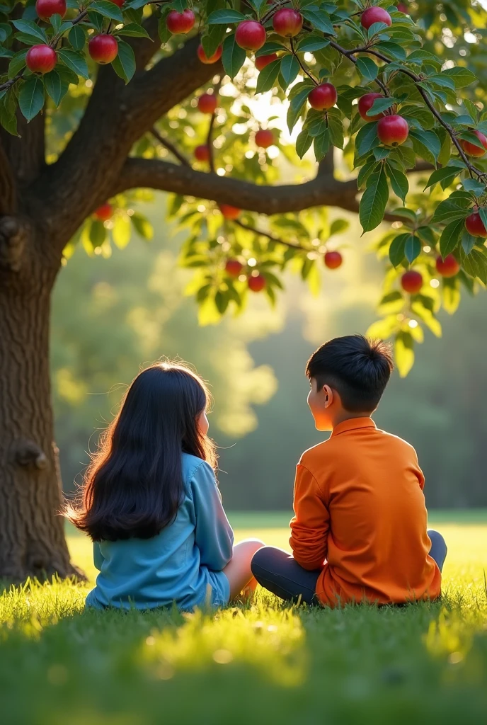
M200 563L212 571L221 571L233 555L233 531L223 510L215 473L208 463L201 463L196 469L191 489Z

